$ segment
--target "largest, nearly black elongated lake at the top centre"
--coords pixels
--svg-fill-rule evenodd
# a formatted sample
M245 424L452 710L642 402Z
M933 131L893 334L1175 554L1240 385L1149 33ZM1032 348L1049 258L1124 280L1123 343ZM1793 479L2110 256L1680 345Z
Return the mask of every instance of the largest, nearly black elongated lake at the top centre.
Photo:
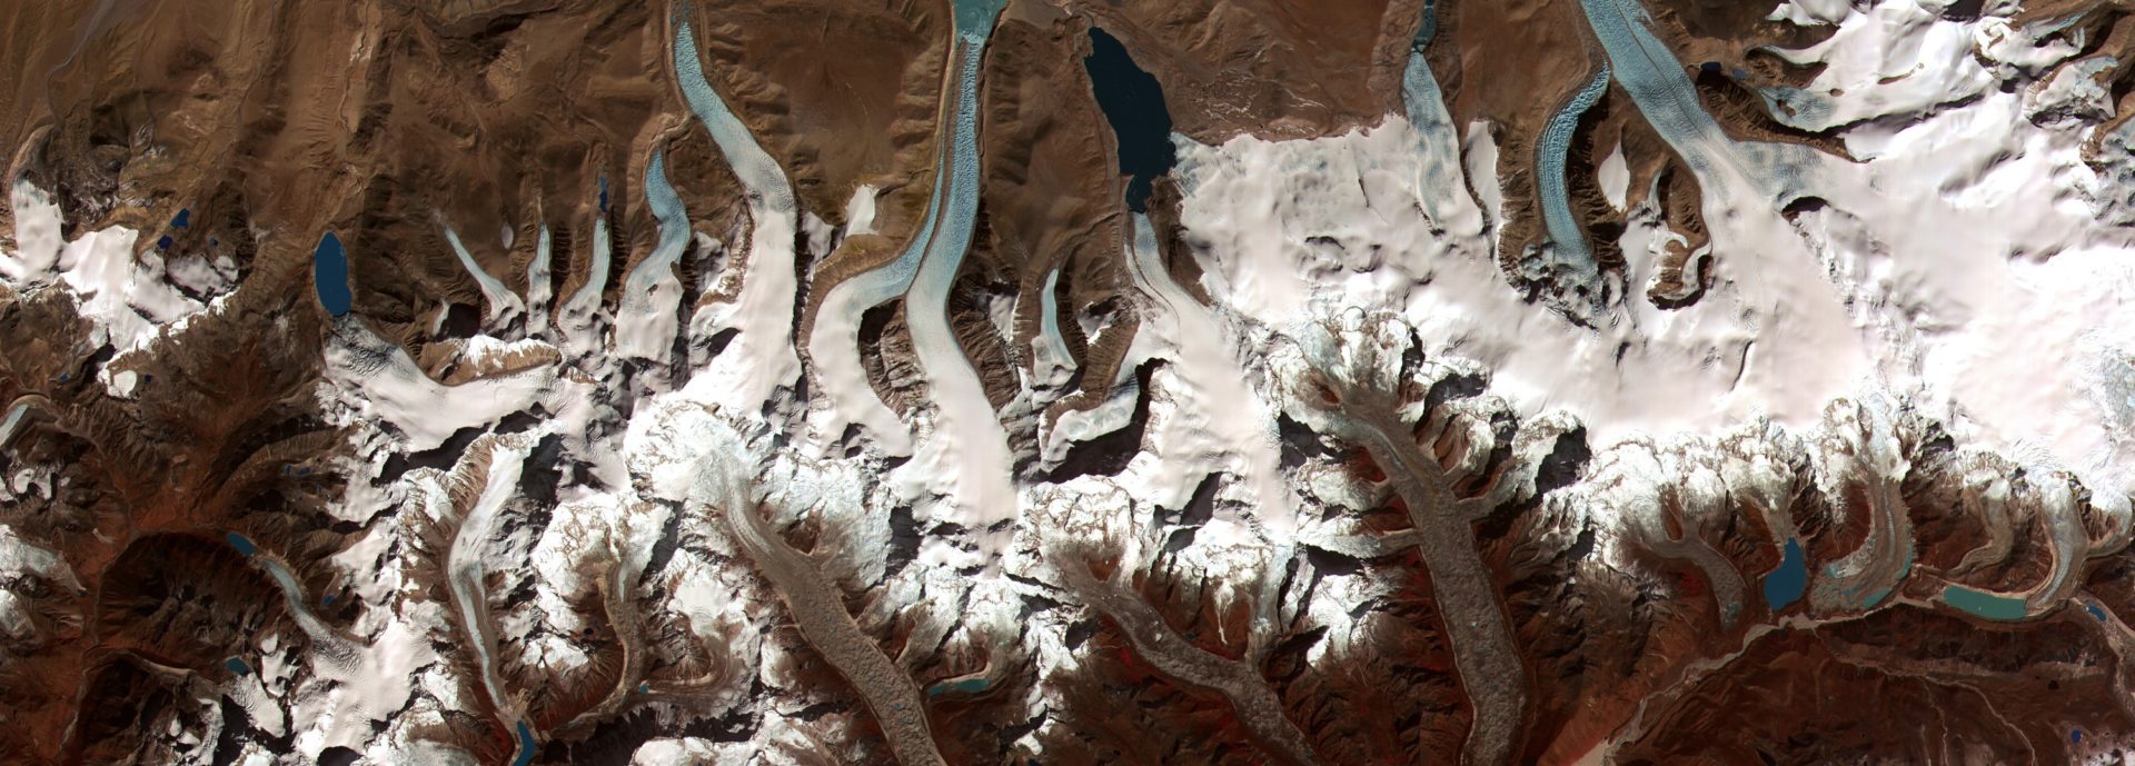
M1164 85L1134 64L1119 38L1089 28L1089 47L1082 68L1089 70L1104 122L1119 137L1119 173L1129 177L1127 209L1140 213L1149 201L1149 183L1179 162L1172 151L1172 113L1164 107Z

